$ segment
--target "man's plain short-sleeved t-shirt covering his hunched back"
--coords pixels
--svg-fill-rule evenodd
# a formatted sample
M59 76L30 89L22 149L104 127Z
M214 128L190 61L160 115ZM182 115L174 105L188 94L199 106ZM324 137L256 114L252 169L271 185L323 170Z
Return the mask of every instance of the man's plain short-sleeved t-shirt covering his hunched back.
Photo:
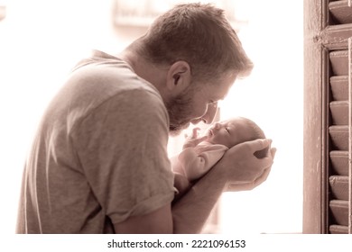
M119 58L80 62L45 112L23 171L18 233L112 233L170 203L169 117Z

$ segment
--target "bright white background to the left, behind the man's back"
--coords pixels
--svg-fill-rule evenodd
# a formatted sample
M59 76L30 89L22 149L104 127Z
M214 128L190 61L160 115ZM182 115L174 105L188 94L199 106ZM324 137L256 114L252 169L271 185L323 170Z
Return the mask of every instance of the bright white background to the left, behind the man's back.
M112 1L11 0L0 22L0 234L13 233L23 163L51 97L92 48L125 46Z

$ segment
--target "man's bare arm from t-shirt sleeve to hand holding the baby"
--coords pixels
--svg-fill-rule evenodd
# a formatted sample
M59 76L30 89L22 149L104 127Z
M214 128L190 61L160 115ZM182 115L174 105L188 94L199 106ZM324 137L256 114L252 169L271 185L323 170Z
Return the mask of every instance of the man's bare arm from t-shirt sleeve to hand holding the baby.
M272 149L269 157L260 159L253 153L269 145L269 140L257 139L230 148L218 164L172 206L170 203L149 214L118 223L116 233L199 233L228 184L238 184L237 191L243 191L265 181L275 150Z

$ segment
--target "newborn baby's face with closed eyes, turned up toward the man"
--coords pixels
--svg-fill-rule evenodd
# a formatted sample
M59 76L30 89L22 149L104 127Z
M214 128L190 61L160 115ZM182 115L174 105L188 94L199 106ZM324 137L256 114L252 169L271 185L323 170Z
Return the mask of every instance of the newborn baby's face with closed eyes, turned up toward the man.
M231 121L216 122L207 131L207 141L212 144L222 144L231 148L238 143L252 139L252 132L249 130L245 120L236 118Z

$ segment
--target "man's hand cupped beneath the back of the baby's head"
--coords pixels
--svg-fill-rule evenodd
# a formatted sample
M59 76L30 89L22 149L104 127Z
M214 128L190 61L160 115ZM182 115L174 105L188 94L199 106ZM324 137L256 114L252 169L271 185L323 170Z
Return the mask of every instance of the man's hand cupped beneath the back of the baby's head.
M271 139L256 139L230 148L214 168L225 170L227 191L252 190L262 184L270 173L276 149ZM254 153L269 148L267 157L257 158Z

